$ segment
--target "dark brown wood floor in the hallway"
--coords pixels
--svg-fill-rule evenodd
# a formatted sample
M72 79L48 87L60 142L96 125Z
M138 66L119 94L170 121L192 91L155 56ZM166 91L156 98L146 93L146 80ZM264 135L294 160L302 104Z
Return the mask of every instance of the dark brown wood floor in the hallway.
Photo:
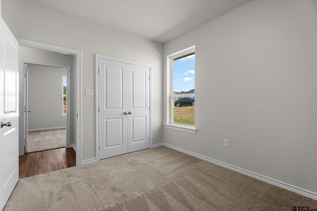
M19 156L19 179L76 166L73 148L58 148Z

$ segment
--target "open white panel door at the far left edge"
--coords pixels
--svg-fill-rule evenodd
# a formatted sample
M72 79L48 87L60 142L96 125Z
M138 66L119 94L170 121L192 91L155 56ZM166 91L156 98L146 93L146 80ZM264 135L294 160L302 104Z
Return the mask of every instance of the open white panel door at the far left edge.
M0 18L0 210L19 179L18 42Z

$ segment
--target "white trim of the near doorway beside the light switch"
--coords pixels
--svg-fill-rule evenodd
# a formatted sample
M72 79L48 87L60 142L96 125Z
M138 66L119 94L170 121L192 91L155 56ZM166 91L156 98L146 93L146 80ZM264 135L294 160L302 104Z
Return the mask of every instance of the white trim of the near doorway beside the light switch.
M17 41L19 42L19 45L69 54L76 57L76 68L74 71L76 75L76 82L75 82L76 83L75 85L76 87L76 90L75 90L76 91L76 96L75 96L76 114L78 115L76 119L76 166L80 166L82 163L82 97L81 97L82 96L82 51L66 48L66 47L61 47L57 45L42 43L42 42L35 42L35 41L20 39L20 38L17 38ZM20 100L20 103L21 101L23 102L22 99Z

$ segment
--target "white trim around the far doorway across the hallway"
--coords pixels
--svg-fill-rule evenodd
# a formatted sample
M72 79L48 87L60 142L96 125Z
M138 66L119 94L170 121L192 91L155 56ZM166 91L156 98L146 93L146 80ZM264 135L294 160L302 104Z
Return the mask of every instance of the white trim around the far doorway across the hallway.
M36 61L30 61L30 60L22 60L20 59L20 68L22 68L22 70L20 70L20 77L23 77L25 75L25 65L41 65L41 66L46 66L46 67L54 67L54 68L64 68L66 69L67 71L67 89L66 89L66 104L67 104L67 108L70 108L70 93L71 93L71 85L70 85L70 66L67 66L67 65L60 65L60 64L51 64L51 63L45 63L45 62L36 62ZM23 74L23 75L22 75ZM25 87L25 80L22 80L22 88L24 88L24 90L26 90L26 87ZM23 91L23 102L26 103L26 92ZM21 110L20 109L20 112L26 112L24 110L24 105L23 105L23 109ZM22 114L22 113L20 113ZM24 113L23 113L24 114ZM21 115L20 116L20 120L21 118L23 119L22 122L25 123L25 125L27 126L27 120L25 118L26 115ZM70 147L70 115L66 115L66 147ZM23 129L24 130L24 129ZM22 139L25 139L23 140L23 142L25 143L25 141L27 140L27 130L24 130L25 134L23 134L23 136L20 136L20 139L19 140L19 145L22 144ZM24 152L25 152L25 149L24 149ZM23 152L23 154L24 154ZM22 152L19 153L19 155L21 155Z

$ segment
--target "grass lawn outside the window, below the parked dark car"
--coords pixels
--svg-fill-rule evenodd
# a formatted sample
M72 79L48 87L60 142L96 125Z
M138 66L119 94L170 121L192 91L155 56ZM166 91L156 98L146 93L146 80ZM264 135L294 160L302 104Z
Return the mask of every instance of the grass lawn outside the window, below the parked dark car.
M195 106L174 107L173 122L185 125L195 125Z

